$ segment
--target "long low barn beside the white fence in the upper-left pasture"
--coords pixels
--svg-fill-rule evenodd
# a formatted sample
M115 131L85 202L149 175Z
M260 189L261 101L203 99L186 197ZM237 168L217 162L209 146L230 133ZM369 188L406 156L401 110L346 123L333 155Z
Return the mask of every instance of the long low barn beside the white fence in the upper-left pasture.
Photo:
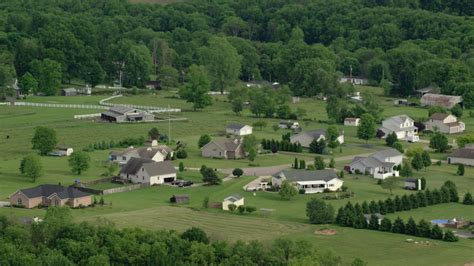
M113 106L108 111L103 112L101 118L102 120L116 123L155 120L153 114L121 105Z

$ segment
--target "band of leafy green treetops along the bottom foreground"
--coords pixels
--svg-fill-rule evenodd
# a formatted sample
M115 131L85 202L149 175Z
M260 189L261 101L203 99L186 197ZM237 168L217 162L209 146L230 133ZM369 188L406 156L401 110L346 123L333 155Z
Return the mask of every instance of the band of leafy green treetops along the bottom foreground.
M361 263L360 259L356 262ZM72 223L67 208L48 208L43 222L19 224L0 216L2 265L343 265L333 253L310 243L279 239L269 246L258 241L211 242L191 228L150 231ZM364 265L354 264L354 265Z

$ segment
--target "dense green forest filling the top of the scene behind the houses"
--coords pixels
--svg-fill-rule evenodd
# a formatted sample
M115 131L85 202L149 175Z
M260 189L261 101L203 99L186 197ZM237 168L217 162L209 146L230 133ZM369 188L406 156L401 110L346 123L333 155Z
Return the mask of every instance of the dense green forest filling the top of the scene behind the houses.
M214 90L268 80L330 95L352 72L394 95L434 84L473 106L473 14L469 0L1 1L0 85L174 87L196 64Z

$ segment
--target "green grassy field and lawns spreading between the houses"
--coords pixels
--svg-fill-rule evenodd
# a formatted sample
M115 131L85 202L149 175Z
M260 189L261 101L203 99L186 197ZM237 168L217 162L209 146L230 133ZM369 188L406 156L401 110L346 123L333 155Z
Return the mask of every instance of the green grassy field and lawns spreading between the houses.
M380 95L381 91L374 88L363 87L361 90L373 90ZM31 97L28 101L48 103L71 103L71 104L98 104L98 101L106 96L90 97ZM188 158L176 160L177 166L183 162L187 168L198 168L205 164L213 168L249 167L252 165L271 166L291 164L294 157L312 161L314 154L307 152L302 154L279 153L260 155L255 162L247 159L226 161L206 159L200 157L197 141L202 134L210 134L213 138L224 136L224 128L229 123L252 124L261 121L253 117L248 110L241 116L231 112L230 104L223 96L215 96L214 104L204 111L192 112L191 104L176 98L173 92L162 91L156 95L148 96L126 96L114 99L115 103L171 106L182 108L180 117L188 118L188 121L173 122L171 124L171 137L187 144ZM380 98L384 107L384 116L407 114L412 117L426 117L426 109L414 107L394 107L392 99ZM308 111L307 121L302 121L304 130L326 128L323 123L327 119L325 102L314 99L302 99L300 103L291 104L293 109L305 108ZM56 109L56 108L32 108L32 107L7 107L0 106L0 200L6 198L20 188L31 187L30 180L18 173L20 159L31 153L30 140L36 126L45 125L55 128L58 132L60 143L70 145L76 150L86 147L90 143L99 141L118 141L125 137L146 136L152 126L158 127L160 132L168 134L167 123L153 124L110 124L99 123L89 120L74 120L76 114L97 113L101 110L87 109ZM474 128L474 119L463 117L468 128ZM278 119L264 119L268 126L262 130L254 130L257 138L280 139L281 134L286 131L274 131L271 127L279 122ZM342 147L334 151L330 157L341 158L336 163L338 169L350 163L351 155L371 153L376 150L385 149L381 140L371 140L368 143L357 139L356 128L338 125L344 130L346 142ZM471 131L472 132L472 131ZM6 136L9 136L7 139ZM452 137L450 137L452 138ZM425 146L426 144L403 143L405 148ZM109 151L95 151L89 153L92 158L91 168L82 176L73 175L68 167L66 158L43 157L45 175L39 183L61 183L71 184L75 179L93 180L98 179L107 171L105 161ZM433 158L444 159L446 154L434 154ZM461 195L474 188L474 170L466 168L465 176L456 176L456 166L445 165L431 166L427 170L415 172L415 177L425 177L429 188L439 188L446 180L454 181ZM221 177L224 177L221 174ZM179 173L179 177L201 182L201 176L196 170L187 170ZM406 264L406 258L410 257L410 264L415 265L462 265L473 262L474 242L461 240L458 243L443 243L434 241L430 246L421 246L405 243L408 236L389 233L372 232L367 230L354 230L350 228L334 227L337 230L335 236L316 235L314 232L321 229L320 226L308 224L305 216L306 202L312 197L309 195L297 195L291 201L281 200L277 193L270 192L244 192L242 187L253 180L254 177L241 177L239 179L225 182L220 186L197 186L192 188L178 188L171 186L150 187L141 190L118 193L105 196L106 206L73 210L77 221L96 221L105 218L114 222L119 227L143 226L150 229L174 229L184 230L190 226L198 226L206 230L213 239L244 240L260 239L262 241L272 240L276 237L291 237L293 239L306 239L314 245L325 250L333 250L341 254L347 261L354 257L361 257L370 265L402 265ZM388 190L382 189L376 181L367 176L346 174L345 184L350 191L355 193L352 202L364 200L379 200L390 197ZM98 184L95 188L110 188L110 184ZM211 202L221 202L225 197L240 193L245 196L246 205L257 207L257 209L272 209L271 212L257 211L252 215L232 215L220 210L202 210L203 199L208 196ZM393 192L396 195L413 193L402 190L401 187ZM191 198L189 204L171 206L169 198L175 194L188 194ZM322 197L316 195L315 197ZM335 208L344 205L347 200L329 201ZM34 216L43 215L44 210L25 210L0 208L0 214L11 216ZM413 217L417 220L435 218L464 217L474 219L474 208L461 204L443 204L428 208L411 210L397 213L392 216L400 216L404 219ZM333 227L331 227L333 228ZM364 241L364 245L360 241ZM403 254L401 256L400 254Z

